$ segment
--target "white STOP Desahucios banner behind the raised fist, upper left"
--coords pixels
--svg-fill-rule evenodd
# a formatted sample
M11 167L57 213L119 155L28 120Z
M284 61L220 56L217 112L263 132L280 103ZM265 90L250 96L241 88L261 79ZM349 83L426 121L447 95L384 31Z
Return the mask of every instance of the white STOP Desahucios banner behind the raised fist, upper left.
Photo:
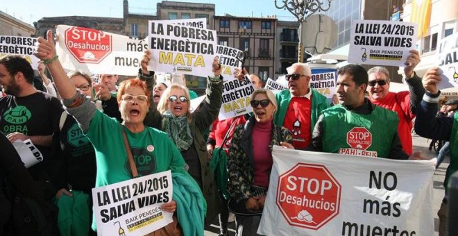
M144 49L148 49L145 40L93 28L58 25L56 34L56 53L62 67L87 74L135 76Z

